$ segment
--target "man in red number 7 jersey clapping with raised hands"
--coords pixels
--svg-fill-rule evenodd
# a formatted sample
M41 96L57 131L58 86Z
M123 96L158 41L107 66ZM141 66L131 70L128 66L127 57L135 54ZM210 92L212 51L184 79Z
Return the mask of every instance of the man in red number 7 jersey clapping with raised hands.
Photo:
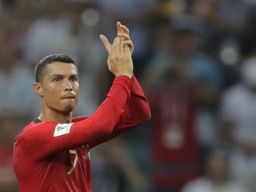
M34 89L42 100L41 114L14 142L13 166L21 192L91 192L90 148L150 118L148 101L133 75L129 30L120 22L116 27L113 44L100 35L115 79L92 116L72 116L79 84L71 58L53 54L37 63Z

